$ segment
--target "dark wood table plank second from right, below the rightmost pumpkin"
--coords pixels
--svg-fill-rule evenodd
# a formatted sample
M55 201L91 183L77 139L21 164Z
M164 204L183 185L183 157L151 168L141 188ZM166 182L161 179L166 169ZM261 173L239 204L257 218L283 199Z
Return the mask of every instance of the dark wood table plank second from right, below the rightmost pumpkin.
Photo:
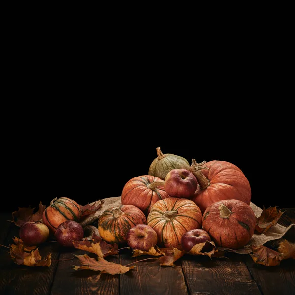
M182 268L190 294L261 295L240 254L212 258L186 254Z

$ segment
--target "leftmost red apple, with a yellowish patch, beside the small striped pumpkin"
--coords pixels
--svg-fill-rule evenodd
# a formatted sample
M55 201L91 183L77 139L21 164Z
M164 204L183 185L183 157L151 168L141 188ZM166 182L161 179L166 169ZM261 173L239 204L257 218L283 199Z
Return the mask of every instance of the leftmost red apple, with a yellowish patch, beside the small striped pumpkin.
M40 221L27 221L20 226L20 239L25 245L40 245L49 236L49 228Z

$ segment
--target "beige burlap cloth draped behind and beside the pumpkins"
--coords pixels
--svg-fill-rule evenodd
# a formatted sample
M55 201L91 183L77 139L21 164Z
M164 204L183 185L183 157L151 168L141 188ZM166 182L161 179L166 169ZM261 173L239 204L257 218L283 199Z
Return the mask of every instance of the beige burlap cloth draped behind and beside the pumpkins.
M88 218L85 219L85 221L84 221L85 224L89 223L89 220L91 221L91 218L93 220L95 220L95 219L97 220L99 218L99 216L105 210L107 210L107 209L109 209L111 207L120 206L121 205L121 196L119 196L119 197L106 198L106 199L103 199L103 201L104 201L104 204L100 207L100 209L97 210L94 214L90 215ZM91 204L93 204L93 203L91 203ZM259 217L261 215L262 209L260 207L256 206L252 202L250 202L250 207L254 211L254 214L255 214L256 217ZM276 240L276 239L280 239L280 238L282 238L287 233L287 231L292 226L295 226L295 224L292 223L288 227L285 227L285 226L280 225L280 224L276 224L275 226L272 226L263 235L254 233L254 235L252 236L252 238L249 241L249 243L243 249L232 250L232 249L227 249L227 248L219 248L219 250L233 251L233 252L236 252L236 253L239 253L239 254L248 254L248 253L251 253L252 252L252 250L250 249L250 246L251 245L252 246L259 246L259 245L265 244L266 242L269 242L269 241L272 241L272 240Z

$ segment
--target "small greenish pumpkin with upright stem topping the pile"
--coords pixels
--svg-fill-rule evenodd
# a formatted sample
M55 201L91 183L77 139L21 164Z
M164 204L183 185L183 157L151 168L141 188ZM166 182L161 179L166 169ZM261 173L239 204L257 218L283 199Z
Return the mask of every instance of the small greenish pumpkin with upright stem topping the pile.
M149 166L148 174L165 180L167 173L172 169L189 169L189 162L174 154L163 154L161 147L157 147L158 157Z

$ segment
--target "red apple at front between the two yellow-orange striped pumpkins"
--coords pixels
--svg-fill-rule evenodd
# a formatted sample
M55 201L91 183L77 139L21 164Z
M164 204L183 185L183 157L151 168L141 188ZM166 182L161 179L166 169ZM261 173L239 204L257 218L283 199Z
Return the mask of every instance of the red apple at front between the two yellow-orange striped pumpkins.
M147 224L137 224L127 233L127 244L132 249L148 252L157 242L156 231Z

